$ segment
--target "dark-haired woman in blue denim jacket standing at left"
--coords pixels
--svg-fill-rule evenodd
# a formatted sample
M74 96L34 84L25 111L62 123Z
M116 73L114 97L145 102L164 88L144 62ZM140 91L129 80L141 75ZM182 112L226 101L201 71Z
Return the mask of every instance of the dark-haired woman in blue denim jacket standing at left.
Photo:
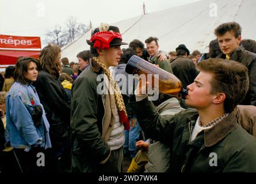
M37 154L51 148L49 123L32 86L38 67L39 61L33 57L21 57L14 71L15 82L6 98L6 140L14 148L22 173L40 172L44 160L37 162Z

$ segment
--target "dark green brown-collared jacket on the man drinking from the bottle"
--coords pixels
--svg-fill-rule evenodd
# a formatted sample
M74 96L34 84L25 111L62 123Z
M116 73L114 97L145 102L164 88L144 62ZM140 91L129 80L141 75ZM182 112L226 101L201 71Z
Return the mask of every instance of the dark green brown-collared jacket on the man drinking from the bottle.
M256 172L256 139L236 122L235 111L190 141L195 109L160 116L147 98L135 104L146 136L171 148L171 172Z

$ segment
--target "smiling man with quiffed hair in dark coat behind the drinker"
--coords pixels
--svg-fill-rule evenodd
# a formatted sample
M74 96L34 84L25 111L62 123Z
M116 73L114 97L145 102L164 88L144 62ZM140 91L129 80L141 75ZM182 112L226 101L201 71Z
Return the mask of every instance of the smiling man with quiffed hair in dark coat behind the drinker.
M250 78L249 90L240 104L256 106L256 54L246 51L243 47L239 47L242 40L241 33L242 28L237 22L227 22L217 26L215 35L223 52L217 58L234 60L248 68Z

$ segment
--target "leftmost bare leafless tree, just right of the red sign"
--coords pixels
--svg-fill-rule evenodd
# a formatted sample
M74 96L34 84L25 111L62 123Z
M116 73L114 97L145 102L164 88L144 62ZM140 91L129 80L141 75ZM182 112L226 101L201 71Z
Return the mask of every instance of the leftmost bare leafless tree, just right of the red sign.
M68 43L65 34L66 33L64 33L62 26L56 24L54 29L47 30L46 41L47 43L51 42L59 45L60 47L63 47Z

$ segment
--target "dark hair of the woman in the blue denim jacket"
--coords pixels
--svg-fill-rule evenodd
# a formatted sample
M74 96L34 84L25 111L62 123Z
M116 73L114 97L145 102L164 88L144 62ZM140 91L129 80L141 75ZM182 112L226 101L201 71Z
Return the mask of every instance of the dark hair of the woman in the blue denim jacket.
M24 85L28 85L31 81L25 78L28 73L28 65L30 62L36 63L37 70L40 68L39 60L34 57L20 57L16 63L16 69L14 71L14 81L20 82Z

